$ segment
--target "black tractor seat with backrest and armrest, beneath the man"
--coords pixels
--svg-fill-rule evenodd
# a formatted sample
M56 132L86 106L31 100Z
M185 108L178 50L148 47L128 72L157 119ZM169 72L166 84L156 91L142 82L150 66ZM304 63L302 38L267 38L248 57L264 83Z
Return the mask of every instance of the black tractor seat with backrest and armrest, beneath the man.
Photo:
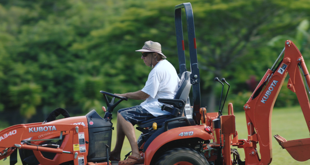
M190 77L189 77L190 74L191 73L188 71L183 72L181 79L180 79L180 82L179 82L179 89L175 95L175 98L174 99L168 99L168 100L171 101L171 100L179 99L179 100L183 100L184 104L186 104L186 100L188 99L189 91L192 87L192 84L190 83ZM158 99L159 102L161 102L161 100L166 100L166 99ZM162 103L166 103L166 102L162 102ZM169 104L169 103L167 103L167 104ZM166 105L166 108L169 108L171 110L173 107ZM152 127L153 123L155 122L155 123L157 123L157 128L161 128L167 119L172 119L175 117L181 117L183 114L184 108L185 108L185 106L183 106L181 109L179 109L179 111L178 111L179 113L177 115L173 116L173 114L171 114L171 115L158 116L158 117L150 119L150 120L142 121L142 122L138 123L137 126L140 128L148 128L148 127ZM164 109L164 110L166 110L166 109ZM140 130L140 129L138 129L138 130Z

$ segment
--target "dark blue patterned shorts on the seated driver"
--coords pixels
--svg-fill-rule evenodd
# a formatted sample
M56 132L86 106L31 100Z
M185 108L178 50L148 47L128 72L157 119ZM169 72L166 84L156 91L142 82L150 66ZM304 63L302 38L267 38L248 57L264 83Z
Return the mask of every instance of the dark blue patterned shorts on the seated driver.
M136 125L142 121L155 118L155 116L153 116L146 109L142 108L140 105L123 108L118 110L117 112L120 113L124 117L124 119L130 122L132 125Z

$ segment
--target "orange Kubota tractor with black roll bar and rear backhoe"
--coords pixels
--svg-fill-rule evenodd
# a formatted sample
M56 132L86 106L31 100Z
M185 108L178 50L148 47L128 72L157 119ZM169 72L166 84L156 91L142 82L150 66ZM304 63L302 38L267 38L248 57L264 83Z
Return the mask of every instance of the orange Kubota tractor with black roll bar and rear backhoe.
M182 8L185 9L187 19L191 72L186 70L185 65ZM205 108L200 108L200 75L190 3L175 6L175 27L181 82L175 99L158 99L164 103L162 110L171 112L170 115L138 124L137 129L142 132L138 146L145 165L270 164L271 113L287 74L290 75L287 87L296 93L306 124L310 126L310 104L302 78L304 76L309 92L310 75L302 55L292 41L285 42L285 48L277 61L267 70L244 105L248 138L238 139L231 103L228 104L228 115L222 115L220 109L219 112L206 113ZM283 60L280 60L281 57ZM219 79L216 78L216 81ZM225 79L222 81L227 83ZM191 88L193 106L190 106L188 99ZM108 157L114 129L111 122L112 111L122 100L127 99L100 92L107 103L107 111L103 118L95 110L85 116L69 117L68 112L59 108L43 123L14 125L2 130L0 160L10 156L10 164L14 165L19 151L23 165L111 164ZM108 101L107 95L113 97L111 102ZM115 98L119 99L116 103ZM63 114L65 118L55 120L55 116L59 114ZM308 129L310 131L310 127ZM294 159L310 159L310 138L286 141L281 136L274 137ZM257 144L260 146L260 157L256 150ZM244 149L245 161L240 160L238 151L231 146Z

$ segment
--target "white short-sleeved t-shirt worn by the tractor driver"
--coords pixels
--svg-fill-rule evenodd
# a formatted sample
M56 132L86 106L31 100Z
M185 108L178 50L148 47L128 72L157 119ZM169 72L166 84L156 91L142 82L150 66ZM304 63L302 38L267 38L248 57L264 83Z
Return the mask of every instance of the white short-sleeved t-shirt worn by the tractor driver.
M141 107L155 117L169 115L170 112L161 110L162 108L159 106L163 104L158 102L157 99L174 99L179 89L179 81L178 74L169 61L163 60L158 62L150 74L148 74L148 81L146 81L144 88L141 90L150 95L140 104Z

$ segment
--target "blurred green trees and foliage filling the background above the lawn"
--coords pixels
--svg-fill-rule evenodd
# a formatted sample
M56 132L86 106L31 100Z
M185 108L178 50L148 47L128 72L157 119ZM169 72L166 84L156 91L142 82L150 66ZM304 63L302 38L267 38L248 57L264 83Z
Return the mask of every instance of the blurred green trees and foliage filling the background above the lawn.
M252 92L247 81L254 75L260 81L287 39L298 45L310 66L309 1L189 2L195 20L201 95L211 100L207 106L219 100L214 77L225 77L231 84L228 100L242 110ZM105 105L100 90L140 90L151 69L135 50L148 40L161 43L167 60L179 70L174 6L181 3L0 0L0 111L17 110L26 119L38 109L50 112L75 107L86 113ZM183 26L187 45L185 18ZM186 47L185 53L189 60ZM276 106L297 104L291 99L294 93L282 91ZM139 103L124 101L117 108Z

